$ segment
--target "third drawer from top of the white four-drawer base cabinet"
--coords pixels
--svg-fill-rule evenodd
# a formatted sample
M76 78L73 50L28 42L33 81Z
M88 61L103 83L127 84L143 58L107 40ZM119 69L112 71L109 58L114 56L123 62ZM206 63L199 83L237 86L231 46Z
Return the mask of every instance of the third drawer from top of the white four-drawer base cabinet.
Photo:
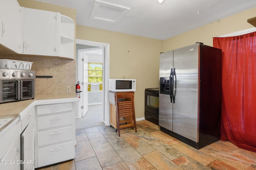
M74 129L72 126L40 131L37 133L37 145L38 147L41 147L44 145L69 141L74 139L74 136Z

